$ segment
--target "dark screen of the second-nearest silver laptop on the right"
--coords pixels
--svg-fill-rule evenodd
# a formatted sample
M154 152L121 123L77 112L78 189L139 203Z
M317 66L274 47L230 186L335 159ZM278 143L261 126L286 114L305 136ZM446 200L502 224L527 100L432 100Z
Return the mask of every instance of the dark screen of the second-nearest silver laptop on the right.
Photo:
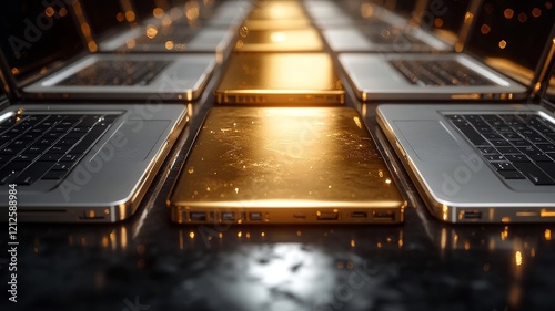
M529 85L555 20L553 0L485 0L465 44L467 52Z

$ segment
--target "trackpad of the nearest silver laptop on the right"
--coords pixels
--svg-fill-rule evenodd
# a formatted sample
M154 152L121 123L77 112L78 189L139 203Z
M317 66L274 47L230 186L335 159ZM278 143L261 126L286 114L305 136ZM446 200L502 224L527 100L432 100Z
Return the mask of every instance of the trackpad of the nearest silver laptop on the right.
M460 162L467 155L440 121L394 121L422 162Z

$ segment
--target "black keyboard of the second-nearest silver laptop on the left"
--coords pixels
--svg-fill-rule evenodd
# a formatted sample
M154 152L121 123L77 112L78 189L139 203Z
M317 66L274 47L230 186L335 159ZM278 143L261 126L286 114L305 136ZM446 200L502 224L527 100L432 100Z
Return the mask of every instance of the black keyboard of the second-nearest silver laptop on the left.
M148 85L170 61L99 61L58 85Z

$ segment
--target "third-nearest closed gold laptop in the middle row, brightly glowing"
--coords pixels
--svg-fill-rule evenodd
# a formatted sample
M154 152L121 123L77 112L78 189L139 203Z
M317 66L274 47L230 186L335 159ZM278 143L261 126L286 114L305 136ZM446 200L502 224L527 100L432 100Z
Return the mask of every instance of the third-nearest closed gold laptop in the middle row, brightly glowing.
M235 52L322 52L324 43L313 27L250 30L243 27Z

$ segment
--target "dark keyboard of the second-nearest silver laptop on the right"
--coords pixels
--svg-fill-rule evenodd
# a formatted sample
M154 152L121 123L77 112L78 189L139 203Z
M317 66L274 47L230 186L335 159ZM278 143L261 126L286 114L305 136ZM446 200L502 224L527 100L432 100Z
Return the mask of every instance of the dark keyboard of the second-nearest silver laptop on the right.
M391 61L408 82L423 86L493 85L492 81L456 61Z

